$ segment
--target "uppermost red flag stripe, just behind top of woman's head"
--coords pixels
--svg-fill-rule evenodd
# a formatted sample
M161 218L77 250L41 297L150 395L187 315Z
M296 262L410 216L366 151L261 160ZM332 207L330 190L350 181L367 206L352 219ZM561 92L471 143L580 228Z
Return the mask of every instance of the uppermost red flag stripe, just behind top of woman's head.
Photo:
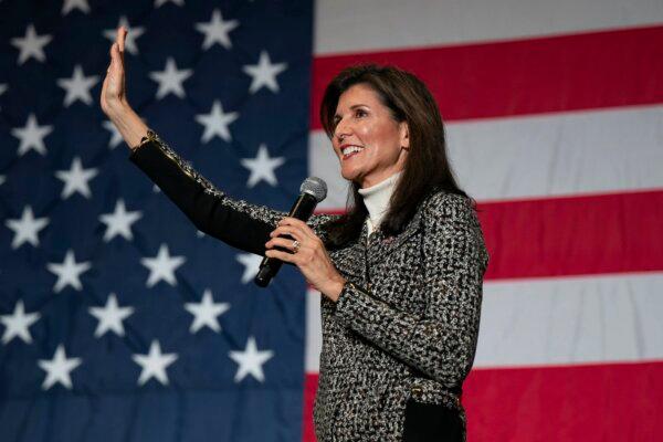
M326 85L360 62L415 73L445 120L663 102L663 27L481 44L318 56L311 127L319 129Z

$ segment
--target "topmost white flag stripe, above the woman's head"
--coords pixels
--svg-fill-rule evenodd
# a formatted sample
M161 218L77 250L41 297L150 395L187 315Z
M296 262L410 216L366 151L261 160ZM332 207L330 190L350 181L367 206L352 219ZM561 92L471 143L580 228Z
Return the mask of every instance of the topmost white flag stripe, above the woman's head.
M318 0L314 53L357 53L662 22L660 0Z

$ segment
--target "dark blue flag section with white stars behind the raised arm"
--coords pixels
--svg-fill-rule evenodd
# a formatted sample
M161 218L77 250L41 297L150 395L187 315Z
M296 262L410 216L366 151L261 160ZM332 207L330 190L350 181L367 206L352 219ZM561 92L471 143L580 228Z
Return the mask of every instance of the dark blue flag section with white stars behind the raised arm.
M304 280L259 288L127 159L119 24L131 106L220 188L307 176L312 2L1 2L0 440L298 441Z

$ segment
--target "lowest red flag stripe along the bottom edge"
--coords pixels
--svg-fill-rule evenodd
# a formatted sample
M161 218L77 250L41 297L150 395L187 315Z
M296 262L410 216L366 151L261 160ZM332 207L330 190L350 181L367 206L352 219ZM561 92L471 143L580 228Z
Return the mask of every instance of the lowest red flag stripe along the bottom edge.
M304 438L314 442L317 373L306 375ZM473 370L464 383L467 440L663 440L663 362Z

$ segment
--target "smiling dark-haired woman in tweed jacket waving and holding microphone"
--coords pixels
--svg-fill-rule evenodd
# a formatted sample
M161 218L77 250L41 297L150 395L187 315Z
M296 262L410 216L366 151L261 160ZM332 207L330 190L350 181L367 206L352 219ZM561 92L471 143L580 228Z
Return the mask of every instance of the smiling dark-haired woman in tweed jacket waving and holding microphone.
M324 295L318 441L465 440L460 397L488 255L423 83L379 66L332 81L320 118L354 204L305 223L230 198L145 126L125 96L125 35L118 29L101 103L131 161L199 230L296 265Z

